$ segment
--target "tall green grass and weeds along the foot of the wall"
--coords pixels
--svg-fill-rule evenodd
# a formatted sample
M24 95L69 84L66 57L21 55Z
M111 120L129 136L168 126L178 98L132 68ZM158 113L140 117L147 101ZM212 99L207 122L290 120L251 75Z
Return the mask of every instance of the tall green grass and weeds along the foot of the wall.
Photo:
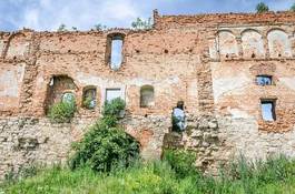
M295 161L279 156L253 164L242 157L215 178L198 171L179 176L165 161L138 162L108 174L88 167L52 167L0 187L6 194L295 194Z

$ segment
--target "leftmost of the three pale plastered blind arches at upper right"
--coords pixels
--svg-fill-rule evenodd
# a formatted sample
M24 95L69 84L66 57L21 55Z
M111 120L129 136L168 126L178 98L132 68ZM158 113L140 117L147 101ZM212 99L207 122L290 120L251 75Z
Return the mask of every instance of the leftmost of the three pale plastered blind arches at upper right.
M217 33L216 43L220 58L238 57L238 45L236 37L232 31L228 30L219 31Z

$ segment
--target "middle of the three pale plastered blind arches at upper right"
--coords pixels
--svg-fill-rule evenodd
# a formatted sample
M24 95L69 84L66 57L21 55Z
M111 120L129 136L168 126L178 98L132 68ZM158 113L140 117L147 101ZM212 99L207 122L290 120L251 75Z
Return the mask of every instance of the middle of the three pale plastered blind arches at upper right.
M265 49L263 35L254 29L242 32L242 48L244 58L264 58Z

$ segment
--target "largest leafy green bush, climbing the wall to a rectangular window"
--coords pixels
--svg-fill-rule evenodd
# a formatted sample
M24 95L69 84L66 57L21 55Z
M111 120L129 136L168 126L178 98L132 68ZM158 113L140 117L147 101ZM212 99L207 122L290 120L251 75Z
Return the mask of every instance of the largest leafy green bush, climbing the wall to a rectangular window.
M106 103L102 119L94 124L85 137L73 144L76 153L69 160L72 170L89 166L97 172L109 172L130 165L139 155L139 143L118 126L118 113L125 109L121 100Z

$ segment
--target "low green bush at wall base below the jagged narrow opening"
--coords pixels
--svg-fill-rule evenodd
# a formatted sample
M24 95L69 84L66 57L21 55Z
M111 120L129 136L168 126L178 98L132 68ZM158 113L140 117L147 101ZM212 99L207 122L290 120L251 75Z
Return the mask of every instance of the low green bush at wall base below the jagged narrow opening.
M196 153L186 150L165 150L163 160L168 162L179 177L197 175Z

